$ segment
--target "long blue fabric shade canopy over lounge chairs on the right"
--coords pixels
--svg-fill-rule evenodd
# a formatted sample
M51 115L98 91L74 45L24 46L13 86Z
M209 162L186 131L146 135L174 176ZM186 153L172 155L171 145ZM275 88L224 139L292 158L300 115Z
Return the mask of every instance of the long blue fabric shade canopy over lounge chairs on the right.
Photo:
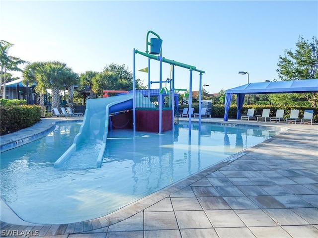
M245 94L272 94L272 93L317 93L318 79L290 80L276 82L249 83L225 91L225 114L223 120L228 120L228 113L231 105L232 94L238 95L238 114L243 107Z

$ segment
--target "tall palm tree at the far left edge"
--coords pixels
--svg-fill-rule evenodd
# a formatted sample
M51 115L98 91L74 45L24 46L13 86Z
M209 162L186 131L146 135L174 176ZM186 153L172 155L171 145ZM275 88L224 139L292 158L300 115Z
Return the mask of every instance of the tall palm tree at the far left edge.
M20 58L16 58L13 56L9 56L8 51L13 44L7 41L0 41L0 97L5 98L5 82L7 80L7 71L22 71L18 67L19 64L27 63L25 60L21 60ZM3 84L3 88L2 88ZM2 96L1 96L2 95Z

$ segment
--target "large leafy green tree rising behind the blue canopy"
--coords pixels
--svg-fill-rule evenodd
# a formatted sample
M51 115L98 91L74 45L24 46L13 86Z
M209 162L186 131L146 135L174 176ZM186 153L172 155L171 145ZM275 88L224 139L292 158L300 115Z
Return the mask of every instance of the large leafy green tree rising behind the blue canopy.
M295 52L285 50L284 57L279 56L279 62L277 63L279 68L276 71L282 81L318 78L318 40L315 36L312 39L313 42L309 42L299 36ZM318 104L317 93L297 95L307 98L312 107L316 107Z

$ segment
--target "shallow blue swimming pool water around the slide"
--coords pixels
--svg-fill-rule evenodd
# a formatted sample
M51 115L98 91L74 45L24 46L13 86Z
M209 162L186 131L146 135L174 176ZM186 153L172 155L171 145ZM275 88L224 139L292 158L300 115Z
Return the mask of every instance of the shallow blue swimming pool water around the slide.
M184 123L161 135L136 132L135 139L131 130L113 130L101 168L87 166L96 143L88 146L88 156L78 155L56 169L54 162L73 143L81 125L61 123L43 138L1 153L1 198L28 222L94 219L279 133L210 123L202 123L198 131L193 122L189 136Z

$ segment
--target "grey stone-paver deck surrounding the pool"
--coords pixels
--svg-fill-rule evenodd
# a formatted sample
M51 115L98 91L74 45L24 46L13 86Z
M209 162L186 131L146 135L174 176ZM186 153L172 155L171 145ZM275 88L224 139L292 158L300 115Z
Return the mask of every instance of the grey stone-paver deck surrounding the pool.
M0 144L41 133L57 120L65 119L42 119L1 136ZM235 119L226 123L278 126L282 132L244 150L246 154L89 221L31 224L1 201L0 236L32 232L32 237L52 238L317 238L318 125ZM6 221L3 214L8 215Z

